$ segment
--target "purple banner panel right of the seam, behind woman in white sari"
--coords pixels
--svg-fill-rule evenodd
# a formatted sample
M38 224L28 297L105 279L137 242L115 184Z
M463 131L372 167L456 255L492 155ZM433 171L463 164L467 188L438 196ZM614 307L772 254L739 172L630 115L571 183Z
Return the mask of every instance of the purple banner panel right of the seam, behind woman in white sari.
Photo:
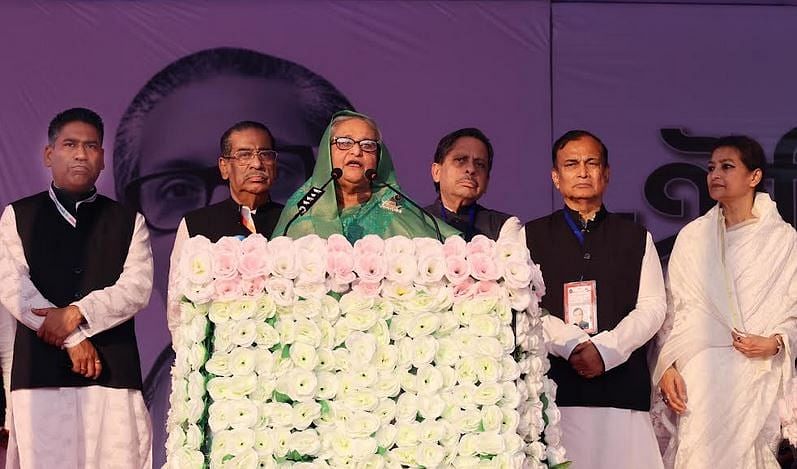
M795 223L797 8L554 3L553 130L583 128L609 149L609 210L645 224L667 257L713 205L713 139L760 141L767 185Z

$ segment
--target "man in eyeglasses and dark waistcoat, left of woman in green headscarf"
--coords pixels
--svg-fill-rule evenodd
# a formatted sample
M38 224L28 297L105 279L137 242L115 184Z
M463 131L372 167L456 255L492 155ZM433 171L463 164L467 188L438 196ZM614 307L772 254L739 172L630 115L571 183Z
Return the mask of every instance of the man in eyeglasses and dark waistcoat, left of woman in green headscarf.
M282 212L283 205L269 196L269 189L277 179L277 152L271 131L259 122L238 122L221 136L220 147L219 173L229 182L230 197L189 212L177 228L169 271L167 310L172 335L180 319L179 298L175 296L176 271L185 240L202 235L215 243L224 236L253 233L271 238Z

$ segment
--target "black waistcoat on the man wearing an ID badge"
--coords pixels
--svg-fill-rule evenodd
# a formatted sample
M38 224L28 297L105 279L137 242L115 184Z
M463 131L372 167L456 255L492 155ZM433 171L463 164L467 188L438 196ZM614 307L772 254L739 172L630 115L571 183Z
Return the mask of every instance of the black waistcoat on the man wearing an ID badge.
M563 284L581 280L583 275L583 280L596 281L598 330L603 331L613 329L636 307L647 232L605 209L597 220L588 225L583 247L562 210L529 222L526 242L545 279L542 306L563 319ZM640 347L625 363L589 380L579 376L567 360L549 355L549 376L558 385L557 404L649 410L646 349Z

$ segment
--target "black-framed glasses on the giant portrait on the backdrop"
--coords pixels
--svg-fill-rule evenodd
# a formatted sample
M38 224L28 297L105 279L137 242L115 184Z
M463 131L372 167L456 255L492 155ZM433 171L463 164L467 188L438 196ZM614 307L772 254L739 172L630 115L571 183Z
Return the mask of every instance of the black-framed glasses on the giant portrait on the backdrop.
M313 174L315 156L313 148L305 145L280 145L277 150L278 176L269 195L272 200L283 202ZM183 164L182 168L135 178L125 186L125 203L141 212L153 230L177 231L186 213L210 205L214 191L227 185L218 166L197 168ZM229 195L229 190L225 192Z

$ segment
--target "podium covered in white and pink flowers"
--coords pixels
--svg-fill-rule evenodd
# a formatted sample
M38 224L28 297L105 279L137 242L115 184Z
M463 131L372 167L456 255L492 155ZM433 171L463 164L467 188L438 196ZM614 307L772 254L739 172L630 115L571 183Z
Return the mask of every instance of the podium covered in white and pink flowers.
M520 240L195 237L180 259L168 467L563 463Z

